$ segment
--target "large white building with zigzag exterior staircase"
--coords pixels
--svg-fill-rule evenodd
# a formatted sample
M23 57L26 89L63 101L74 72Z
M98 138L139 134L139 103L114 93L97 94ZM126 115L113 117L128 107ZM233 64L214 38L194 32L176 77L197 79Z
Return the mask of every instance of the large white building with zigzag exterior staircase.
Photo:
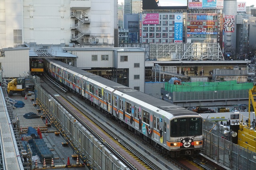
M0 1L0 44L114 44L117 0Z

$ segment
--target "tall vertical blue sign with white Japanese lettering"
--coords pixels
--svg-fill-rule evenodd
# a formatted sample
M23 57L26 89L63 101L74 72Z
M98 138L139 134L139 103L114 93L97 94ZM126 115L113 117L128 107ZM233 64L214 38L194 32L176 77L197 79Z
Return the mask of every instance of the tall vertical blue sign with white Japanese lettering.
M174 43L182 43L182 26L183 16L182 14L175 15L174 19Z

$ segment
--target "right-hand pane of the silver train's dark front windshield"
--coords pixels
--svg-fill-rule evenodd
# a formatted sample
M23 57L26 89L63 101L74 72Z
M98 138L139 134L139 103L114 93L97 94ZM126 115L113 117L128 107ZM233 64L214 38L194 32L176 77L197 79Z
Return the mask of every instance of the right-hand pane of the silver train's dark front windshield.
M202 135L202 119L199 117L190 117L188 119L188 135Z

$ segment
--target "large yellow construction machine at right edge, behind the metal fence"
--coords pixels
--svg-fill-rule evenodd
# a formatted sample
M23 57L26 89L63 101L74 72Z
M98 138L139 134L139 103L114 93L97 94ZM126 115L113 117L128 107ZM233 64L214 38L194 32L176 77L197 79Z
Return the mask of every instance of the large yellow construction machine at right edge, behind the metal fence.
M250 120L250 112L251 110L256 113L256 101L254 101L254 98L256 99L256 84L253 85L252 89L249 90L249 105L248 105L248 111L249 111L249 117L244 117L240 115L240 125L238 130L238 145L244 148L248 148L249 150L256 152L256 131L254 131L255 127L251 126L251 120ZM253 106L253 109L251 109L251 104ZM255 114L256 117L256 114ZM244 121L248 120L248 121ZM254 125L255 125L254 121Z

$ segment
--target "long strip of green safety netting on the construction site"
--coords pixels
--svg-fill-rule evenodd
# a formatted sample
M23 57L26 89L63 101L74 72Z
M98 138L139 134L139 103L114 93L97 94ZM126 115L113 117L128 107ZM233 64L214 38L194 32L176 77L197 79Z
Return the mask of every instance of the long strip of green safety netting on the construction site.
M225 82L182 82L170 84L165 82L164 90L168 92L204 92L222 90L247 90L253 87L252 82L237 83L236 80Z

